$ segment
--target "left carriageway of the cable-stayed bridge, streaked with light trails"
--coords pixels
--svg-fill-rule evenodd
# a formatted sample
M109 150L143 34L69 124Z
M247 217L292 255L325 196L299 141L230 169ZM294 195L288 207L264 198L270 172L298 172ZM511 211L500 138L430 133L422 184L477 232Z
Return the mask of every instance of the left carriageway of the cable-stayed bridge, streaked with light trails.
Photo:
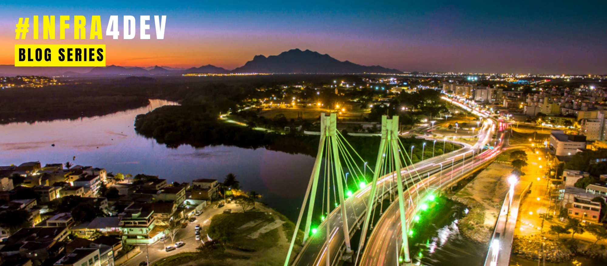
M486 116L481 113L478 113L478 115ZM407 182L405 187L413 186L414 182L418 182L426 178L426 176L435 175L436 173L441 172L443 166L444 168L448 168L449 164L457 166L459 162L461 162L461 169L464 170L464 168L466 168L465 164L467 161L470 161L470 157L472 157L471 155L474 152L473 149L478 150L480 147L487 144L487 142L490 141L494 128L495 122L492 120L487 120L487 122L485 122L481 128L481 133L479 134L478 138L479 141L474 146L466 144L464 145L464 148L453 151L452 153L447 153L445 155L436 156L434 158L418 162L417 164L414 164L413 167L409 166L407 168L403 168L401 171L402 176L409 176L409 179L405 178L405 182ZM464 161L464 157L466 157L467 153L469 154L469 157ZM433 176L432 180L441 182L442 178L442 175L440 175L439 178ZM392 188L396 187L395 179L396 175L394 174L382 176L382 178L380 178L377 182L377 190L384 191L385 194L393 191ZM327 219L325 219L325 221L322 222L319 227L317 227L317 232L313 234L313 236L311 236L310 239L308 239L308 241L304 244L302 250L300 250L299 254L297 254L293 265L326 265L326 256L328 256L328 264L332 265L339 261L337 254L340 254L341 247L344 245L340 208L346 208L346 213L348 213L348 217L346 218L347 224L348 227L350 227L349 231L353 232L354 228L357 226L357 223L361 221L363 214L366 211L366 202L370 195L370 188L371 186L367 185L367 187L364 189L357 191L353 197L346 199L344 204L341 204L335 208L328 215ZM392 234L388 234L388 236L390 235ZM328 239L327 236L329 236ZM372 242L369 241L369 243Z

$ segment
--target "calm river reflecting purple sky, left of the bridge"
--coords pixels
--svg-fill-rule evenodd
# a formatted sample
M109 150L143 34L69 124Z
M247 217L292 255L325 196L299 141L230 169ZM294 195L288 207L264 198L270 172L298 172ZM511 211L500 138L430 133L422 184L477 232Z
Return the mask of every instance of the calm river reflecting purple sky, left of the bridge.
M114 173L157 175L168 182L198 178L222 182L234 173L243 190L256 191L270 207L297 219L294 206L303 201L314 158L265 148L167 148L135 133L135 116L171 104L175 103L151 100L148 107L94 118L0 125L0 165L69 161Z

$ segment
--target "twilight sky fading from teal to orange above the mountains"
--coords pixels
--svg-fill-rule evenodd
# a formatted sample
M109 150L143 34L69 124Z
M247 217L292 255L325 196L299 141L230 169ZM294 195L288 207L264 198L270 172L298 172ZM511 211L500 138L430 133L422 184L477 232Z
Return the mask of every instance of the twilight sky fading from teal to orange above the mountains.
M604 1L24 2L0 3L0 64L13 64L15 44L97 43L107 45L107 64L142 67L231 69L301 48L402 71L607 74ZM18 18L33 15L55 15L57 31L59 15L72 16L72 28L84 15L87 29L100 15L103 40L75 40L71 30L66 40L33 40L31 31L15 40ZM135 16L135 39L105 36L110 15L120 16L120 31L122 16ZM152 17L152 39L139 39L140 15ZM154 15L167 16L163 40Z

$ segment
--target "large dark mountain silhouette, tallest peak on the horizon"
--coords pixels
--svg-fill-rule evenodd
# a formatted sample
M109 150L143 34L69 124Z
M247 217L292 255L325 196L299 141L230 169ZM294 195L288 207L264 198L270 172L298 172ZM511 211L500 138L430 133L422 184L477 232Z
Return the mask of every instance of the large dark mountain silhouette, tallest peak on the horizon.
M339 61L329 55L310 50L293 49L280 55L257 55L232 73L402 73L379 65L358 65Z

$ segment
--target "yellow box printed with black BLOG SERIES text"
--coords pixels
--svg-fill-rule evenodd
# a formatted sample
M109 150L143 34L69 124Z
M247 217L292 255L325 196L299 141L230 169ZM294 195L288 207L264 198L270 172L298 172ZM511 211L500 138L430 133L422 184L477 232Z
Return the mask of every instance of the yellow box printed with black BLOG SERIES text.
M15 44L15 67L105 66L105 44Z

